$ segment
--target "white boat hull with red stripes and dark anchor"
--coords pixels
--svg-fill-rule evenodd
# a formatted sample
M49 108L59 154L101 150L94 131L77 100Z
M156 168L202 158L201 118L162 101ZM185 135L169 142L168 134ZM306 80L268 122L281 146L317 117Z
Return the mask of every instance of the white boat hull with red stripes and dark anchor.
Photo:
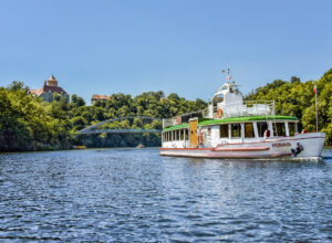
M160 148L160 155L215 159L319 158L324 140L325 134L312 133L256 142L222 144L214 148Z

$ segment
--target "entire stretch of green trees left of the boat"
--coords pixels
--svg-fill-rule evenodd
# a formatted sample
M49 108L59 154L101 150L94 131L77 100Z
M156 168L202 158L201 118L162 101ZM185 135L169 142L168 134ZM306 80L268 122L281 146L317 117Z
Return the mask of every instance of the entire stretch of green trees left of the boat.
M173 117L206 108L201 99L187 101L177 94L143 93L136 97L113 94L107 102L86 106L84 99L72 95L71 102L54 94L52 103L29 94L21 82L0 87L0 151L69 149L73 145L87 147L159 146L159 134L81 135L75 131L105 119L125 116ZM162 128L154 120L120 120L102 128Z

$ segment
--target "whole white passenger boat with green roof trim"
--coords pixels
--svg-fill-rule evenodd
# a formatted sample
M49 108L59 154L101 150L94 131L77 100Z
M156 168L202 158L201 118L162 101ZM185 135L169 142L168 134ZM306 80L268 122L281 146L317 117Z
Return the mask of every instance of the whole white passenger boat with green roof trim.
M319 159L324 133L299 133L299 119L276 115L274 101L243 101L228 81L208 107L163 119L160 156L216 159Z

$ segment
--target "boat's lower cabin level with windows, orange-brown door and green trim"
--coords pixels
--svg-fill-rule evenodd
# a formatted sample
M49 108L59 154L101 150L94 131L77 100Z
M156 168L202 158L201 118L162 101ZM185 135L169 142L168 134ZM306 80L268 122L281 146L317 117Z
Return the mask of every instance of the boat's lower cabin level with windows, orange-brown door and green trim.
M210 148L218 144L262 141L269 138L294 136L298 133L299 120L295 117L276 116L273 120L263 120L259 117L243 118L200 123L198 118L193 118L189 124L164 129L163 147Z

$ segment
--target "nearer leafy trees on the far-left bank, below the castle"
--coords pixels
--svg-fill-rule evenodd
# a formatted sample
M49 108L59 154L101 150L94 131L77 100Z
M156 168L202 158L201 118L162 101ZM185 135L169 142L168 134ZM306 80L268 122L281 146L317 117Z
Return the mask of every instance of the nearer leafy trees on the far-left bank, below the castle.
M70 133L60 103L32 97L20 82L0 87L0 151L68 148Z

